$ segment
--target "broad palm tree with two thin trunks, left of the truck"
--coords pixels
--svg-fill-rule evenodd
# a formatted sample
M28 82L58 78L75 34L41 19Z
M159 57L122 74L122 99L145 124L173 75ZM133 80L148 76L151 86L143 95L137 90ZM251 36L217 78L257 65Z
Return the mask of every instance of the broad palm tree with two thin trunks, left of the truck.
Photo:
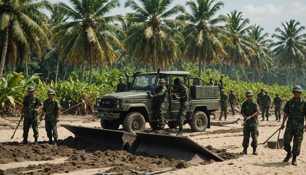
M121 15L106 16L112 9L119 7L119 0L69 0L70 6L59 2L55 6L59 11L67 14L73 21L62 22L54 26L51 31L56 33L51 41L58 42L55 50L62 47L59 55L61 59L67 58L69 63L90 66L89 84L91 84L92 66L102 62L107 66L119 57L114 47L123 49L117 35L125 33L116 25L115 21L123 22ZM51 50L48 54L51 54Z

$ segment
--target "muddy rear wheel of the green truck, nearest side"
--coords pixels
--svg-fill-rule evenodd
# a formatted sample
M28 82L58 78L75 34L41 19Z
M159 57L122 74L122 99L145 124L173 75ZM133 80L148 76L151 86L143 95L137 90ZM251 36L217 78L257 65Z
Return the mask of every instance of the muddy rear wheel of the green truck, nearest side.
M207 116L203 111L195 111L189 121L190 128L193 132L203 132L208 124Z

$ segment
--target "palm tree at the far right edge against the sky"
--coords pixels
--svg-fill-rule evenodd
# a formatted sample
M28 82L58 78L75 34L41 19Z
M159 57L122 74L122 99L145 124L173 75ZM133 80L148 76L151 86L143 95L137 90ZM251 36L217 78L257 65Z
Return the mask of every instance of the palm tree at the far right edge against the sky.
M299 69L305 62L306 50L306 33L301 34L305 30L305 26L300 25L299 21L290 20L286 24L281 23L284 30L275 28L272 38L275 37L279 41L272 43L272 47L276 47L273 52L275 53L276 60L282 67L290 66L290 85L292 85L292 64L296 65ZM297 73L297 71L296 71Z

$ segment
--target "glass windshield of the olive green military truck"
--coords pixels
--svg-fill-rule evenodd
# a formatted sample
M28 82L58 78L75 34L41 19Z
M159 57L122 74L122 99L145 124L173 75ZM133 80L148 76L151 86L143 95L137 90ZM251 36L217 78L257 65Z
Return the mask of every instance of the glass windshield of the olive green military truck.
M134 78L131 89L153 89L156 75L138 75Z

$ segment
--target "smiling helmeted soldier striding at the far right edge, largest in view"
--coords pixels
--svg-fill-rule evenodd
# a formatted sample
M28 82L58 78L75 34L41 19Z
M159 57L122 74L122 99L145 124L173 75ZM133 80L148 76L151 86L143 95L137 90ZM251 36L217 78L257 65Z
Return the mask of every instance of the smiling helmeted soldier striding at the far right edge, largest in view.
M283 140L287 156L284 158L283 162L288 162L289 159L292 158L292 165L297 166L297 156L300 155L303 135L304 132L306 132L306 125L304 125L304 118L306 119L306 100L301 97L302 88L300 86L294 86L292 92L294 97L289 99L285 104L281 126L281 129L285 128L285 121L288 118ZM291 152L290 143L292 138L293 147Z

